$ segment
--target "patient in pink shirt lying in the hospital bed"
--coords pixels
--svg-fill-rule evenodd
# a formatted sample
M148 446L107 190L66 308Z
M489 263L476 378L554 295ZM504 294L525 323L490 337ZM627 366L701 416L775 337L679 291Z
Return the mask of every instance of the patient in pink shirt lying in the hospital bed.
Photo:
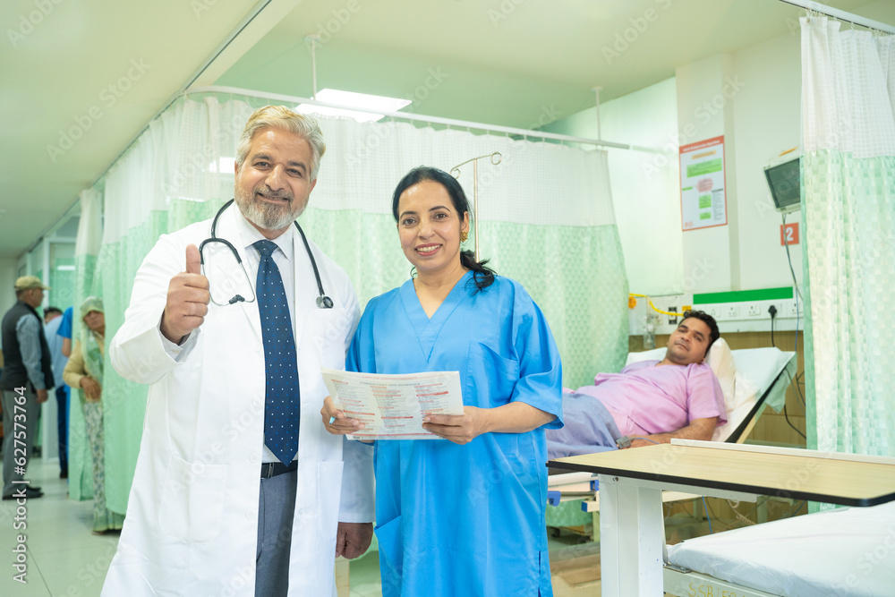
M549 458L668 443L672 438L712 439L727 422L724 396L704 361L720 337L703 311L686 311L661 361L635 362L620 373L601 373L594 385L563 396L565 427L547 431ZM625 440L630 439L630 445Z

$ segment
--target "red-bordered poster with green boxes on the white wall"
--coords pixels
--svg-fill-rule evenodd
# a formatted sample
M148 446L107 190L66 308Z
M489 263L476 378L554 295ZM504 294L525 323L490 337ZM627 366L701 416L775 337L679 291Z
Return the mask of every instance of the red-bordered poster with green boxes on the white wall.
M723 136L681 146L680 211L685 231L727 224Z

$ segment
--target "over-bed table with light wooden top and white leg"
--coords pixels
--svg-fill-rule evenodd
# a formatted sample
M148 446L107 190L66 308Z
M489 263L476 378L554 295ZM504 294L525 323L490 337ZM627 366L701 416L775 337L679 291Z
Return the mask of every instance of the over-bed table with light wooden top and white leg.
M703 583L715 587L711 594L723 594L719 590L737 597L771 594L663 568L668 555L662 490L741 501L755 501L758 495L777 495L851 507L872 507L895 500L895 459L884 457L675 439L671 444L635 450L559 458L548 465L598 473L604 597L661 596L663 582L669 593L709 594L692 593L694 579L697 586ZM724 534L714 536L720 538ZM808 549L813 547L820 546L809 543ZM710 549L717 550L717 546Z

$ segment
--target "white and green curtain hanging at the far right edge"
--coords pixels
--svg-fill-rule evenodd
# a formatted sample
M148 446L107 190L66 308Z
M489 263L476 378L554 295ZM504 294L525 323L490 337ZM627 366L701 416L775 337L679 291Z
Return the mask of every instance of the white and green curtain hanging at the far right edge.
M801 26L809 447L895 456L895 38Z

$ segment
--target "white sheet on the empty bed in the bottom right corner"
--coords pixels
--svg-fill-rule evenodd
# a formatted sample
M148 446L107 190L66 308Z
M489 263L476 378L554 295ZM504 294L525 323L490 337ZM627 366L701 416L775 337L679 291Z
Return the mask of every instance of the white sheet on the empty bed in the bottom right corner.
M669 564L784 597L895 595L895 502L669 545Z

